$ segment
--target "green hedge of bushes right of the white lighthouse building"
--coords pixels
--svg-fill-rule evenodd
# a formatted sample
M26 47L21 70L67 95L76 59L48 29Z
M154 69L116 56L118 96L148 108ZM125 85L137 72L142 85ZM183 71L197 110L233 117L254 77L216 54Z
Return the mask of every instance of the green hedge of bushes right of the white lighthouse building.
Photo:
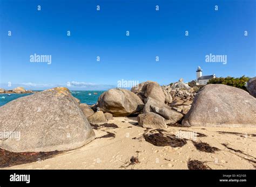
M211 78L207 84L225 84L230 85L231 87L240 88L247 91L245 85L246 82L250 79L250 77L242 76L240 78L234 77L219 77L219 78Z

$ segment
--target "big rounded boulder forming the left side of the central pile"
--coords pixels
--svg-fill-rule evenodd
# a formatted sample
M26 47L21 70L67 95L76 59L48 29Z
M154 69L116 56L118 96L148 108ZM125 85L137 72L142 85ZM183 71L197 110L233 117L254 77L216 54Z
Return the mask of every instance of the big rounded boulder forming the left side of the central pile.
M113 116L129 116L143 109L142 100L133 92L125 89L110 89L98 98L99 110Z

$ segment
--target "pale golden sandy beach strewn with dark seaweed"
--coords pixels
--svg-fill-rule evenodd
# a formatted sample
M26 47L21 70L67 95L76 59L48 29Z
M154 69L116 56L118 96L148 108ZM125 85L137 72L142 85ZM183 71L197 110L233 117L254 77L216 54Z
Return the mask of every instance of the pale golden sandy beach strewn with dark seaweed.
M108 123L116 124L118 128L93 130L96 139L83 147L51 159L3 169L188 169L189 160L204 162L211 169L255 169L256 128L169 126L165 131L170 134L191 131L206 136L186 140L182 147L159 147L145 141L146 128L136 125L136 118L114 117ZM114 133L115 137L100 138L107 132ZM219 150L206 153L197 150L192 141L205 142ZM132 156L138 158L138 163L131 163Z

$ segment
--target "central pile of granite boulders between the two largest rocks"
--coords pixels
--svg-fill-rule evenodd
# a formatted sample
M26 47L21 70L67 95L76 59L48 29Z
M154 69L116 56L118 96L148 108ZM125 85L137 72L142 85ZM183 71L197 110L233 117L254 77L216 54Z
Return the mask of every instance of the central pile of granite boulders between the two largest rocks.
M98 98L96 106L100 111L112 113L113 116L130 116L138 114L138 124L143 127L167 128L183 118L183 114L173 110L169 91L157 82L146 81L125 89L110 89Z

